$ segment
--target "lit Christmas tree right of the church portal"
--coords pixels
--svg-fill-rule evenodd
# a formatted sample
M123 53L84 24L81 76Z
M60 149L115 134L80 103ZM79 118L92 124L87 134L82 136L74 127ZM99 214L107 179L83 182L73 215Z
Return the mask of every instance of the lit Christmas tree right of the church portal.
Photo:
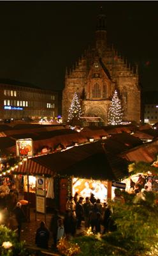
M117 124L121 124L121 122L122 122L122 106L121 106L120 99L117 95L117 90L115 90L111 100L110 108L108 110L108 124L117 125Z

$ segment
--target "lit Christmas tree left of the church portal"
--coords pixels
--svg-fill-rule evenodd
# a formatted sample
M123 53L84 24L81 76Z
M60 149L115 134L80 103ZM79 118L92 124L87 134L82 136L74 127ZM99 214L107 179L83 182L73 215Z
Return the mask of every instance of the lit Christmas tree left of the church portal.
M82 110L81 110L80 102L78 100L77 93L75 92L73 96L73 100L71 102L71 106L69 108L68 122L80 120L81 115L82 115Z

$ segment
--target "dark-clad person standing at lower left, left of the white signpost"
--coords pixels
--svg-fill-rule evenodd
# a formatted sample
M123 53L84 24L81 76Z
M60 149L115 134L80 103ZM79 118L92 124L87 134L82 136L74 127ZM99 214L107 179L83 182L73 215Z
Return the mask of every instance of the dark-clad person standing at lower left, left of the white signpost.
M22 204L17 202L17 206L13 209L13 214L15 214L15 218L18 224L18 241L20 241L20 234L22 229L22 222L25 221L25 214L22 211Z

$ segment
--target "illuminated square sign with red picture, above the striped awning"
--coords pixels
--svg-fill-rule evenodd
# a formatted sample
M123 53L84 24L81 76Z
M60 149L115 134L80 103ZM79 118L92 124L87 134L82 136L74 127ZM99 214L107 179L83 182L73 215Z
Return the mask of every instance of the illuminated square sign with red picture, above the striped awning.
M32 139L20 139L16 141L16 154L17 156L32 156L33 143Z

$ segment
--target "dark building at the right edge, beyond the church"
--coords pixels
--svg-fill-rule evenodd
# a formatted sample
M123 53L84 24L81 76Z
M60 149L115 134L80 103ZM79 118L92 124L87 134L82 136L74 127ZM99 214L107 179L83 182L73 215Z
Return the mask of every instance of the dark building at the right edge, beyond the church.
M158 122L158 92L143 93L144 122L155 124Z

